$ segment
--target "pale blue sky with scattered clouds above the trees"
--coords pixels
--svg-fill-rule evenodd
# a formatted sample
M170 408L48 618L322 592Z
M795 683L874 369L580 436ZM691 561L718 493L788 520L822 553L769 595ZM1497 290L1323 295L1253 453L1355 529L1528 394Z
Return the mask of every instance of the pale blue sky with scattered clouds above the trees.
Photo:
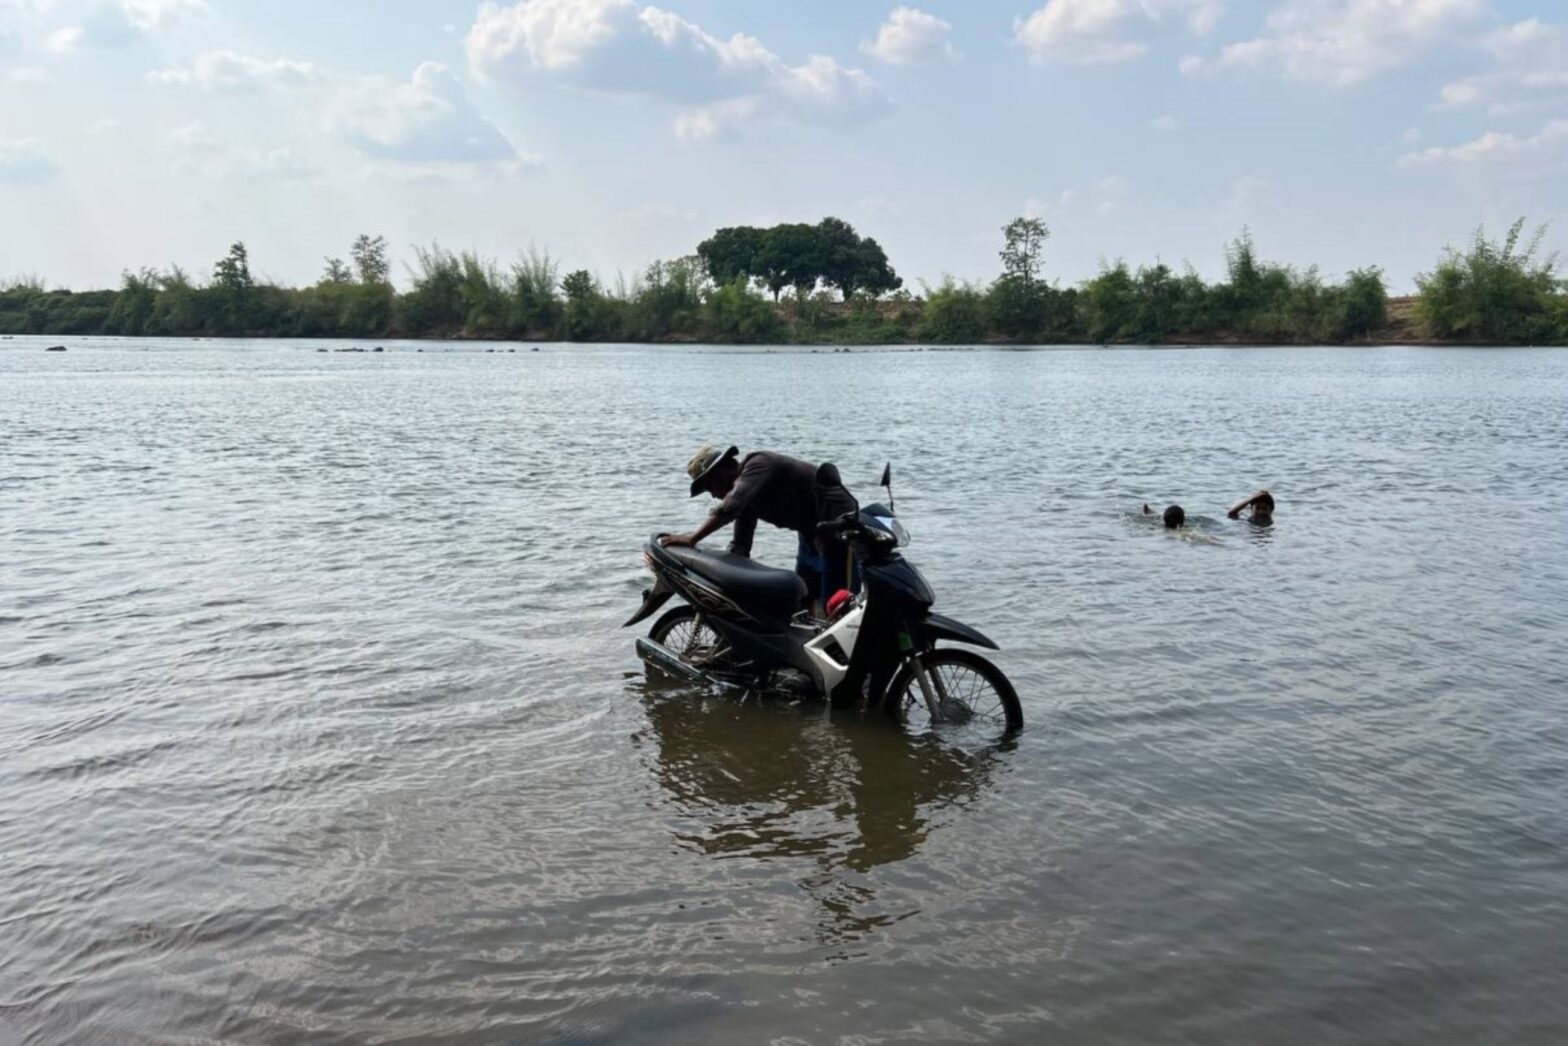
M314 282L361 234L613 282L840 216L908 285L1568 249L1568 0L0 0L0 281Z

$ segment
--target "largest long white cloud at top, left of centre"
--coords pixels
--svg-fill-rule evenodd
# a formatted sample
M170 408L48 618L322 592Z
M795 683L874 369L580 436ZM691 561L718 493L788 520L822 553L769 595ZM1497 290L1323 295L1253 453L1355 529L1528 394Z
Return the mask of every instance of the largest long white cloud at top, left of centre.
M466 50L474 74L486 80L547 75L585 89L684 105L674 129L688 141L729 138L767 116L864 118L887 104L864 71L826 55L790 66L753 36L720 39L633 0L488 3L469 30Z

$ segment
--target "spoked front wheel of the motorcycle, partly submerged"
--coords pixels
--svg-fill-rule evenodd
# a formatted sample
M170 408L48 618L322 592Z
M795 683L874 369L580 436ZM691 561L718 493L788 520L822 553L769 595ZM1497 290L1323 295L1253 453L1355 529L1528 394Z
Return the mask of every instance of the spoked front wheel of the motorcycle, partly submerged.
M1007 737L1024 729L1024 707L1000 668L974 651L942 648L920 656L935 690L939 717L933 718L925 692L908 660L887 687L887 710L916 731L961 728Z

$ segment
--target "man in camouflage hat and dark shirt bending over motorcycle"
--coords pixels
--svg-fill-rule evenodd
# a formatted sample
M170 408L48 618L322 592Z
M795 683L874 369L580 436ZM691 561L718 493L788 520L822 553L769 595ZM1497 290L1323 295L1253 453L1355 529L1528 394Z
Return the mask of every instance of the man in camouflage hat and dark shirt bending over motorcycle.
M795 572L806 582L820 613L836 591L853 588L855 579L848 547L842 541L818 538L817 524L859 510L855 496L837 483L837 470L822 472L826 475L818 475L815 466L800 458L770 450L753 450L742 458L739 447L721 453L704 444L687 464L691 497L706 491L718 499L718 505L691 533L666 535L662 541L665 546L696 546L715 530L734 524L729 550L750 557L759 519L793 530L800 538Z

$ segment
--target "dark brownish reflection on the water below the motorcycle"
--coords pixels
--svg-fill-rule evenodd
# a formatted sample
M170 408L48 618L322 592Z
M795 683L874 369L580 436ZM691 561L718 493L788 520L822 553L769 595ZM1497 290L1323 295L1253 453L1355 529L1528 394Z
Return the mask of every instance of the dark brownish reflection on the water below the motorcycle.
M880 715L829 718L822 703L737 696L638 676L649 764L681 814L682 845L712 858L808 858L823 942L917 914L883 911L867 872L911 858L989 784L1013 742L961 751Z

